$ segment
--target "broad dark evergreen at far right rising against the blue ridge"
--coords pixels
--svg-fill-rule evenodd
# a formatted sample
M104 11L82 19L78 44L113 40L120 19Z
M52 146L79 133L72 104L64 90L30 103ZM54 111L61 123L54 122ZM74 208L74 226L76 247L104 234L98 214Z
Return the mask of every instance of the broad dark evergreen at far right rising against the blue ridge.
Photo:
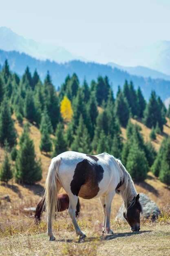
M155 92L152 91L148 105L144 111L144 124L149 128L152 128L152 126L155 128L157 122L161 131L163 131L164 119L162 117L161 108L157 102Z

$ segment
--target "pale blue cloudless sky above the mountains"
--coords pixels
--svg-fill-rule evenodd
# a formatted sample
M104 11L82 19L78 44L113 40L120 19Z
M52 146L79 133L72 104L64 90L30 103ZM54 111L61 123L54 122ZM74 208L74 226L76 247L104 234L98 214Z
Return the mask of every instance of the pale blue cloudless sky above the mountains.
M0 0L1 26L105 63L114 44L170 40L170 0Z

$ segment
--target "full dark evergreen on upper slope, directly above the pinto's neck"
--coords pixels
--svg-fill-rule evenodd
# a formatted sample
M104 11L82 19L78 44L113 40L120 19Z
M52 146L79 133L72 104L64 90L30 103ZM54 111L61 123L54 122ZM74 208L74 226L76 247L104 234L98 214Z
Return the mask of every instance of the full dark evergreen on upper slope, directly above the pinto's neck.
M115 102L115 115L118 117L120 124L126 127L129 119L129 106L121 91Z

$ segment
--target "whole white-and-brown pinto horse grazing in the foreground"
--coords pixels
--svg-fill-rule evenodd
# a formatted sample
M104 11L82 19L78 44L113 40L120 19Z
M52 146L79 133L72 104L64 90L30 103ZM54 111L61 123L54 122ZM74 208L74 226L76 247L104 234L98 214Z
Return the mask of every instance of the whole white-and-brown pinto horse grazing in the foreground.
M49 240L55 240L52 222L57 209L57 193L61 187L70 199L68 213L80 238L85 238L86 235L79 228L75 218L78 196L85 199L99 197L104 213L103 233L113 234L110 229L110 210L116 191L124 201L124 218L132 231L139 231L142 211L139 194L126 168L112 155L86 155L68 151L51 160L44 195Z

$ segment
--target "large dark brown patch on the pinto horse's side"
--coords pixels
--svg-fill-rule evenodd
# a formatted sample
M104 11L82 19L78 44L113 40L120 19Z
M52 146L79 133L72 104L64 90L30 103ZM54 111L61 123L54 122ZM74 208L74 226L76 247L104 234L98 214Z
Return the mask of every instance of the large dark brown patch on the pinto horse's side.
M75 168L73 180L71 181L71 192L73 195L84 199L94 198L99 192L99 182L103 179L104 169L97 162L84 159Z

